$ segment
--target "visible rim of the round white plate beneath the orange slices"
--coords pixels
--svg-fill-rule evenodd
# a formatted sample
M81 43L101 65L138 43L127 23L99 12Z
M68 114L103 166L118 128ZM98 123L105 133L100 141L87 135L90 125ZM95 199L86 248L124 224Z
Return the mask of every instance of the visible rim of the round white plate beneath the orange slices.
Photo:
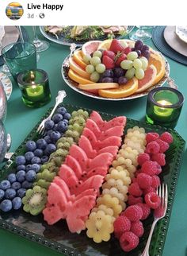
M162 56L163 57L163 56ZM143 91L134 95L130 95L128 97L124 97L124 98L119 98L119 99L112 99L112 98L105 98L105 97L101 97L99 95L93 95L90 92L87 91L83 91L81 89L78 89L78 83L74 82L73 80L71 80L69 78L69 76L67 76L68 70L69 68L65 68L64 64L67 63L69 56L66 57L66 59L63 61L63 65L61 68L61 73L63 76L63 80L67 83L67 85L69 87L71 87L71 89L73 89L74 91L77 91L78 93L82 94L82 95L86 95L87 97L90 98L94 98L94 99L102 99L102 100L111 100L111 101L120 101L120 100L129 100L129 99L137 99L143 96L146 96L149 91L151 91L152 89L156 88L156 87L162 87L162 85L164 83L166 83L166 80L168 79L168 76L170 75L170 65L167 62L167 60L165 59L166 62L166 74L165 76L162 77L162 80L160 80L158 83L156 83L154 86L150 87L147 91Z

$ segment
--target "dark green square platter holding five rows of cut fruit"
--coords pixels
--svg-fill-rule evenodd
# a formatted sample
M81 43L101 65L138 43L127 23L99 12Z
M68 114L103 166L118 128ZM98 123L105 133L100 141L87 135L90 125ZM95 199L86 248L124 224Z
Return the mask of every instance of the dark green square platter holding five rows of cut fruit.
M0 227L63 255L137 256L165 183L169 204L151 242L151 255L162 255L185 147L180 135L71 105L58 107L43 136L40 122L1 170Z

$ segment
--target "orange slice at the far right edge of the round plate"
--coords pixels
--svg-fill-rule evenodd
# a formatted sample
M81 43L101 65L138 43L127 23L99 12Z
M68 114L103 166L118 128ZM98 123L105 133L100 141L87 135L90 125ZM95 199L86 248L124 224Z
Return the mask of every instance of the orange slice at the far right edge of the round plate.
M166 73L166 68L165 68L165 60L162 58L162 56L158 52L155 52L152 49L151 49L151 56L149 58L149 65L151 64L153 64L157 69L157 75L153 82L153 85L154 85L155 83L158 83L159 80L162 80L162 77Z

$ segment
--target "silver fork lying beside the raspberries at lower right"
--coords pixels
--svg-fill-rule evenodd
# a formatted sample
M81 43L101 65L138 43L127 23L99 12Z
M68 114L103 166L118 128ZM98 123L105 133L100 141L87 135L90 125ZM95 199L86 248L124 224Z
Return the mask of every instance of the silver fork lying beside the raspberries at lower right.
M159 187L157 189L157 194L158 194L158 196L160 196L161 204L154 211L154 221L152 223L151 231L150 231L149 237L147 239L147 244L145 246L145 249L143 250L143 254L141 254L140 256L149 256L149 246L151 243L151 238L153 235L153 231L155 229L155 225L159 219L162 219L166 215L167 200L168 200L167 184L159 185Z

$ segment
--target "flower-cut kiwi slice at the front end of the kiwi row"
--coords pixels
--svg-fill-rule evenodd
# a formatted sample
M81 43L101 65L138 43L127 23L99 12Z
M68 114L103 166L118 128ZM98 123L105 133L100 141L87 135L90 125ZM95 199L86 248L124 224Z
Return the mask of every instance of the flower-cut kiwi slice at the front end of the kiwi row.
M32 215L38 215L47 203L47 190L39 186L28 189L22 203L24 204L24 211L30 212Z

